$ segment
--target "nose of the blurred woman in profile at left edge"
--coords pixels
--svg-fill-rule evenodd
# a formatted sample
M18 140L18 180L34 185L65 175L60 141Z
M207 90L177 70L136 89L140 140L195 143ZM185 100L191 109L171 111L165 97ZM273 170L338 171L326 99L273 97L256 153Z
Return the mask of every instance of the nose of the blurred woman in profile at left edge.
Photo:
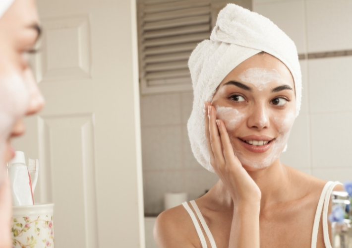
M29 104L26 112L26 115L29 116L41 111L44 107L45 100L30 69L25 71L24 77L29 91Z

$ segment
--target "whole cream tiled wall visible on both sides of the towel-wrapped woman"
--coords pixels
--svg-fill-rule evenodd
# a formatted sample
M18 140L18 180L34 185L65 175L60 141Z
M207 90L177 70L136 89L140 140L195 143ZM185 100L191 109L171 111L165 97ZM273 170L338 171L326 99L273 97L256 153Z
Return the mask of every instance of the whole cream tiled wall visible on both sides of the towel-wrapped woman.
M300 58L352 55L352 0L253 0L295 42ZM319 55L320 54L320 55ZM352 179L352 56L300 60L303 98L283 163L324 180ZM190 150L186 122L192 92L141 96L144 206L163 210L167 191L189 200L218 177ZM351 152L351 153L350 153Z

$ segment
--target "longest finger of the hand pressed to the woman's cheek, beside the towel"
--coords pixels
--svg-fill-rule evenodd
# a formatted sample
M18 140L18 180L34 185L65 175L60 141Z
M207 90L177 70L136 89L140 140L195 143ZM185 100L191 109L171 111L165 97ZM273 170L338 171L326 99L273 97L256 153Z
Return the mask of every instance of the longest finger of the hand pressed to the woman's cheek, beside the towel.
M210 144L214 153L215 162L218 166L224 165L225 159L221 145L218 125L216 124L216 111L211 105L208 106L209 113L209 137Z

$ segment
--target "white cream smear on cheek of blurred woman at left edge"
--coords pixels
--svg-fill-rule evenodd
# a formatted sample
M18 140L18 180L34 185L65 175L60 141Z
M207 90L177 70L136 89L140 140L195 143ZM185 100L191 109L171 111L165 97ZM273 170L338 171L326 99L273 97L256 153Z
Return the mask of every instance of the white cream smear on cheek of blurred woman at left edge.
M10 74L0 78L0 186L6 172L6 142L13 124L25 114L28 102L28 89L20 75Z

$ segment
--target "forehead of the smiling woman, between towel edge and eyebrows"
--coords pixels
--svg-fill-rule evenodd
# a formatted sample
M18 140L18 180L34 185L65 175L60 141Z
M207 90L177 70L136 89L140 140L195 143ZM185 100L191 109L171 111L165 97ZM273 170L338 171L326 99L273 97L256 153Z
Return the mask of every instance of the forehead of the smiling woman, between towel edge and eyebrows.
M294 89L293 76L289 68L269 54L257 54L237 65L222 81L221 84L229 80L242 81L243 78L259 76L261 73L271 75L271 78L281 78L281 83L288 84Z

